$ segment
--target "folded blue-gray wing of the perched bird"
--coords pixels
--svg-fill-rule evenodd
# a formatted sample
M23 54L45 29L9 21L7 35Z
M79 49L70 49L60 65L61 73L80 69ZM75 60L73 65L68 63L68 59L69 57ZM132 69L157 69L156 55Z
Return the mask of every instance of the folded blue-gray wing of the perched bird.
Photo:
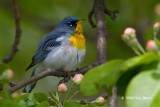
M45 40L43 42L41 41L41 43L43 44L39 46L39 49L37 50L36 54L32 58L32 63L27 67L26 71L31 67L33 67L34 65L36 65L37 63L41 62L43 59L45 59L48 53L52 49L54 49L57 46L60 46L61 41L57 40L60 37L61 36L54 37L54 38L52 37L51 39Z

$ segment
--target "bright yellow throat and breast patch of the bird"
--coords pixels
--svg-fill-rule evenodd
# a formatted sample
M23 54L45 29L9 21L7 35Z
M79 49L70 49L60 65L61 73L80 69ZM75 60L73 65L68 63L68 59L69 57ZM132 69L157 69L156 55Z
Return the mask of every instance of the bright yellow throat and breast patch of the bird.
M71 40L71 45L78 48L79 50L82 50L85 48L85 38L82 34L82 25L81 25L82 21L78 21L77 22L77 26L75 29L75 33L73 35L70 36L70 40Z

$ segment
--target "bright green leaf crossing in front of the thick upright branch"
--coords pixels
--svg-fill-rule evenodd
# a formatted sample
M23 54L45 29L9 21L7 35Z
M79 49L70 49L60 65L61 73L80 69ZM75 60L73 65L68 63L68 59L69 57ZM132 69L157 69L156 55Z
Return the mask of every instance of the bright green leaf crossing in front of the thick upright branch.
M101 79L108 75L110 72L117 70L123 64L123 62L124 61L122 60L112 60L108 63L105 63L88 71L84 75L84 79L80 85L81 92L84 95L96 94L101 87L98 84L102 82Z

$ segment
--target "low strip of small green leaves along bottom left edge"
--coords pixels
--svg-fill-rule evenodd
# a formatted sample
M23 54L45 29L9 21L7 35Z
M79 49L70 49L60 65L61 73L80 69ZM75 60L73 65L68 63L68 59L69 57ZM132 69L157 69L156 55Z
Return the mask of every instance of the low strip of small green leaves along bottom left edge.
M74 86L75 85L73 85L73 87ZM1 107L99 107L96 101L85 102L86 104L84 106L82 106L80 102L70 101L77 94L77 92L75 92L70 96L70 98L68 98L73 87L68 92L63 104L60 97L63 93L59 92L55 92L55 94L50 92L51 97L49 98L44 93L40 92L22 93L18 97L14 98L13 95L11 96L8 92L0 91L0 105ZM107 103L105 105L107 105Z

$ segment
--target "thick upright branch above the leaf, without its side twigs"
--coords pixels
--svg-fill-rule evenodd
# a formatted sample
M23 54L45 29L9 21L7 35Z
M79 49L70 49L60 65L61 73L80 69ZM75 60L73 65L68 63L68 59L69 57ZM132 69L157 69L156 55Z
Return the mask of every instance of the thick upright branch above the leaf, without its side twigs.
M94 0L94 16L97 25L97 60L102 64L107 61L106 45L107 31L105 20L105 5L104 0Z

